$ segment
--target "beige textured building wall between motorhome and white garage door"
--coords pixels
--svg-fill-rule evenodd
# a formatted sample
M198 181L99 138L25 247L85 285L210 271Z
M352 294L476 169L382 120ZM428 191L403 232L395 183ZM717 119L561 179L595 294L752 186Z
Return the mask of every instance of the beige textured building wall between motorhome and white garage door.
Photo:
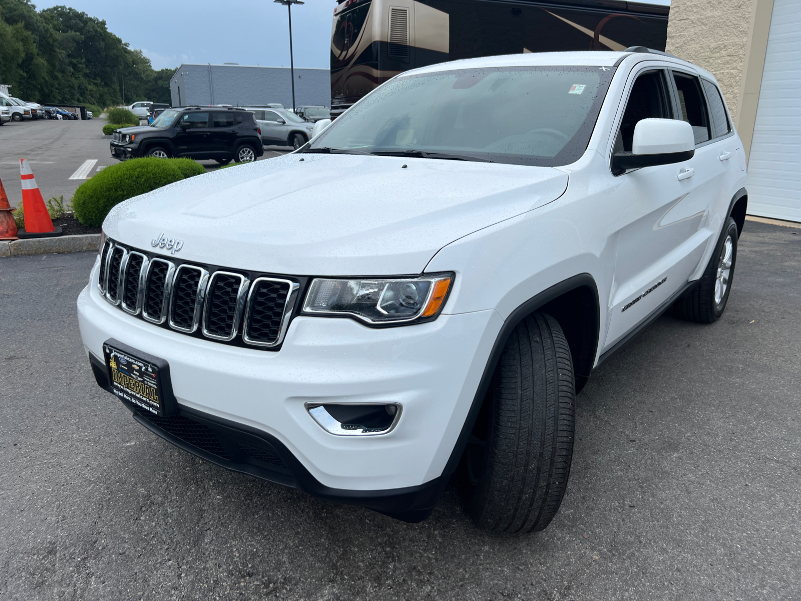
M672 0L666 51L710 71L751 150L773 0Z

